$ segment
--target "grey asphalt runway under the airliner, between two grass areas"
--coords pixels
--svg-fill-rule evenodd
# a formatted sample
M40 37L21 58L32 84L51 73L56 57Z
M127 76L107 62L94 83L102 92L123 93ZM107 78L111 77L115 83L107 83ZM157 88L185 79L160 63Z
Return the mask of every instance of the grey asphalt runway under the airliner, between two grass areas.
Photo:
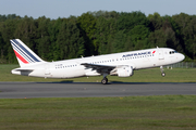
M0 82L0 99L196 94L196 83Z

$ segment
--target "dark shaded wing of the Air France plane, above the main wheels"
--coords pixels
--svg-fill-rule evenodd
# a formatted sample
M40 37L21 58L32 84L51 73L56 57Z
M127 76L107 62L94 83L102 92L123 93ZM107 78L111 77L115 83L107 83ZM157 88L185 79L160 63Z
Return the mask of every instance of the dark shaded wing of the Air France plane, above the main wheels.
M98 65L98 64L89 64L89 63L82 63L81 65L84 65L86 68L91 68L93 70L97 70L97 73L103 74L110 74L112 69L114 69L117 66L112 65Z

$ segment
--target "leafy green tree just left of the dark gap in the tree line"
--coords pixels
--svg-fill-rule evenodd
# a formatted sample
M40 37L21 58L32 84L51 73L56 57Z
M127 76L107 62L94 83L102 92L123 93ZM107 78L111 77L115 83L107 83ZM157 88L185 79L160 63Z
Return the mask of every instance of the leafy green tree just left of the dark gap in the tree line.
M58 35L57 44L60 58L73 58L84 55L84 39L75 20L64 20Z

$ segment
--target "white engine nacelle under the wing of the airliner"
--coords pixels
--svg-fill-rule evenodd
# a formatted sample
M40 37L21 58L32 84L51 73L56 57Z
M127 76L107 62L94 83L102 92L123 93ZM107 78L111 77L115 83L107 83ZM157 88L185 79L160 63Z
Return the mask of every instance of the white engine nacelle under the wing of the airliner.
M117 68L117 74L119 77L130 77L134 75L132 66L122 66Z

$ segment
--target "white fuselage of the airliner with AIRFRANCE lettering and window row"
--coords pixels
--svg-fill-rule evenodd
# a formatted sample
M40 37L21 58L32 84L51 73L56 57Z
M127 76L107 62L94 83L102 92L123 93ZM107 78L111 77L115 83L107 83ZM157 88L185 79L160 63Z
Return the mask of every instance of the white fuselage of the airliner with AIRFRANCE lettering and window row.
M183 60L184 55L176 53L173 49L156 48L59 62L41 62L23 67L23 72L17 70L20 68L13 69L12 74L45 78L74 78L101 75L91 68L81 65L82 63L103 66L130 65L133 69L143 69L170 65Z

